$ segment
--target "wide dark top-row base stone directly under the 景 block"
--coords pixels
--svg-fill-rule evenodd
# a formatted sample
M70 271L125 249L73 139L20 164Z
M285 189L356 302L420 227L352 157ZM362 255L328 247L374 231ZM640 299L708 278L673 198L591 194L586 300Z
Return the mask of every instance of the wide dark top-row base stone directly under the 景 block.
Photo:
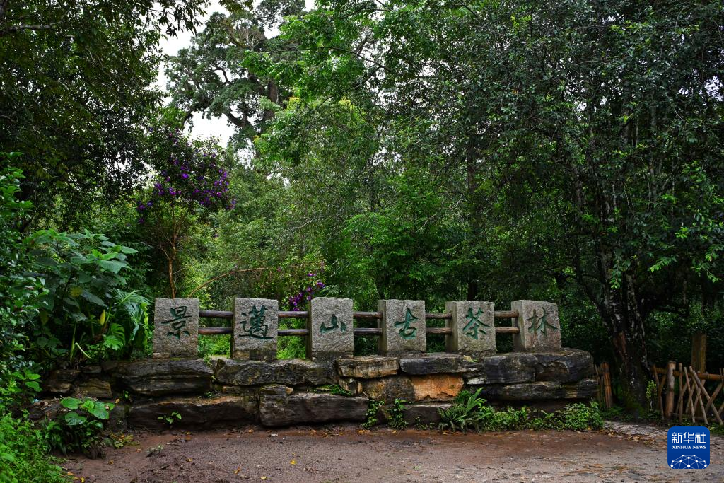
M128 390L156 396L208 392L214 372L203 359L153 359L121 362L114 375Z

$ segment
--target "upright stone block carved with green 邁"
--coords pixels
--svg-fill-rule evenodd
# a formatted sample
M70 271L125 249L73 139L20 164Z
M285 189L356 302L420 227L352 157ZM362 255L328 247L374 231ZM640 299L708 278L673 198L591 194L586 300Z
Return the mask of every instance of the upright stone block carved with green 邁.
M269 298L235 299L232 358L274 361L278 334L279 302Z

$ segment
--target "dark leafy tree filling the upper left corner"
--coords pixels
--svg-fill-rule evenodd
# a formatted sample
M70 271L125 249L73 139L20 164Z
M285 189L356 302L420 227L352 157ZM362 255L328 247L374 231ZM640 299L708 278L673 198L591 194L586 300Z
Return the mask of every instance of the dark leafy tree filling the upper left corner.
M137 185L159 30L193 29L203 4L0 0L0 151L24 154L20 198L36 220L72 224Z

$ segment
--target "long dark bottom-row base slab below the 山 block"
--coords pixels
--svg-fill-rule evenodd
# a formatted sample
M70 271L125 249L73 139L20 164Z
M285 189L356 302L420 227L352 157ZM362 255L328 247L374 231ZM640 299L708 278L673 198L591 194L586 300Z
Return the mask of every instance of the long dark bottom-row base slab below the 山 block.
M367 398L345 398L332 394L261 395L259 419L261 424L271 427L364 421L368 406Z

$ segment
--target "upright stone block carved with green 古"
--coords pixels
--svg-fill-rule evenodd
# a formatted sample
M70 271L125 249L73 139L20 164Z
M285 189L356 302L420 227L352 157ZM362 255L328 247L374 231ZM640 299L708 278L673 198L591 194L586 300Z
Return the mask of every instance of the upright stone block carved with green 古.
M382 318L379 352L383 356L400 356L425 352L425 301L378 301Z

